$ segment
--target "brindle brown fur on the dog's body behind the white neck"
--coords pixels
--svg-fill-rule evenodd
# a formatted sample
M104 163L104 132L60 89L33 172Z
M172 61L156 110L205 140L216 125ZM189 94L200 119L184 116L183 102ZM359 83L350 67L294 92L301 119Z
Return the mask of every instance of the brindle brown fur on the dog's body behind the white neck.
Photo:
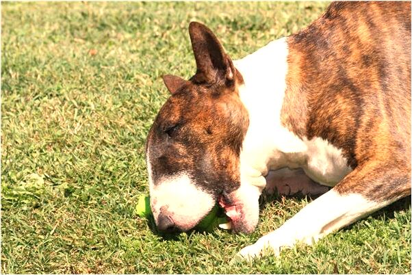
M352 169L368 168L335 189L411 194L411 3L334 2L287 42L283 125L342 148Z

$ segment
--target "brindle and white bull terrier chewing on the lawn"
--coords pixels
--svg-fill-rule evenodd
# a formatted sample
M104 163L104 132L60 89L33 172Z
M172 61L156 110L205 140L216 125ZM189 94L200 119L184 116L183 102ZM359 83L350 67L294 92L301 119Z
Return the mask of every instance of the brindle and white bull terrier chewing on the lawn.
M163 77L171 96L146 142L160 231L188 231L218 202L222 227L250 233L263 189L322 194L240 250L253 259L411 194L410 2L333 2L236 61L205 25L189 34L196 73Z

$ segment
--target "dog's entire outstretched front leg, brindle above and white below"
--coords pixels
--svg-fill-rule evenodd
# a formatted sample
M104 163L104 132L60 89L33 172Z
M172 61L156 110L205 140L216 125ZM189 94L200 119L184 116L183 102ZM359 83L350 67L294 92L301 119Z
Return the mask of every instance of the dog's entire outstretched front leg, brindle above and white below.
M331 191L309 203L276 231L240 250L239 254L251 259L266 250L279 254L282 247L293 246L297 241L313 244L324 235L411 194L409 171L389 164L357 168Z

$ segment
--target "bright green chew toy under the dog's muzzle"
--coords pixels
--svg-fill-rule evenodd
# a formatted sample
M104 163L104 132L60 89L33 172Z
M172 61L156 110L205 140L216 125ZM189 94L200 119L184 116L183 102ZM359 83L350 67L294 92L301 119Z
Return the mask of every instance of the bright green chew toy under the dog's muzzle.
M216 226L219 224L224 224L227 222L227 218L221 216L222 213L219 213L218 205L215 205L211 211L199 222L194 228L198 231L213 231ZM151 218L152 210L150 207L150 197L144 196L143 194L138 198L138 205L136 205L135 209L136 214L141 218Z

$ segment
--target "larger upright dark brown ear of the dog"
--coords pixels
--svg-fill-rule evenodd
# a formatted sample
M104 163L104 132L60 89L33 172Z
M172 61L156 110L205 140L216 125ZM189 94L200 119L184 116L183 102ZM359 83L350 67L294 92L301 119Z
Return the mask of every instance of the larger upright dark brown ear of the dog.
M214 33L201 23L191 22L189 34L197 66L194 79L211 83L220 77L224 83L233 82L235 67Z

